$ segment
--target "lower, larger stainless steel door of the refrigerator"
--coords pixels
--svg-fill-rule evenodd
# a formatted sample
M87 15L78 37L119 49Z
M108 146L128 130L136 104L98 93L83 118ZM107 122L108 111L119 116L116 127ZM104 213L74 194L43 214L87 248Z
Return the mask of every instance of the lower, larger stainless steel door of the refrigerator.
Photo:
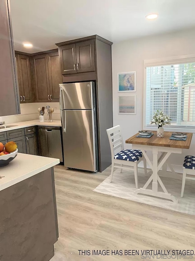
M95 172L94 110L62 110L64 166Z

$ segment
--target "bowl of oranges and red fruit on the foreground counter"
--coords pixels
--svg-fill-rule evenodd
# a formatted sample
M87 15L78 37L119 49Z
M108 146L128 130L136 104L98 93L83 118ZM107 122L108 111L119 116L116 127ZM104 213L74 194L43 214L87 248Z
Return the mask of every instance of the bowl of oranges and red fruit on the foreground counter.
M17 145L14 141L9 141L5 144L0 142L0 167L9 164L18 154Z

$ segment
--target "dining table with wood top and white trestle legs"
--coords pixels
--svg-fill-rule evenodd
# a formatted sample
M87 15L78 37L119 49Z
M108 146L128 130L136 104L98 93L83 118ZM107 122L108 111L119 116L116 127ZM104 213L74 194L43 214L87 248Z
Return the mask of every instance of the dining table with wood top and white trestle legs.
M134 193L170 199L173 202L178 203L176 197L168 193L167 189L165 188L165 185L163 184L161 178L158 175L158 172L161 168L166 171L167 165L169 166L171 171L174 172L172 165L168 163L168 158L172 153L181 154L183 149L190 148L192 133L186 133L186 140L170 140L172 132L164 132L164 137L157 137L156 131L151 131L151 133L153 133L153 135L150 138L147 138L142 137L141 135L139 135L138 132L125 141L125 143L127 144L132 144L132 149L142 151L148 165L152 170L152 175L149 177L143 188L138 188L137 190L135 190ZM147 151L152 152L153 161L151 161L147 156ZM148 186L151 182L152 189L149 189ZM163 192L159 191L158 184L161 186Z

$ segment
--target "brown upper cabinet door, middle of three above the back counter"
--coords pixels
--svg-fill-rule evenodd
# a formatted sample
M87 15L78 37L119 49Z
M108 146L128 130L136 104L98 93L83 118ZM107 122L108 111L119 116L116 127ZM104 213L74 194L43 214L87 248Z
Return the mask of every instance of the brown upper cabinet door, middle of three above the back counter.
M47 54L33 56L33 79L35 102L50 101Z

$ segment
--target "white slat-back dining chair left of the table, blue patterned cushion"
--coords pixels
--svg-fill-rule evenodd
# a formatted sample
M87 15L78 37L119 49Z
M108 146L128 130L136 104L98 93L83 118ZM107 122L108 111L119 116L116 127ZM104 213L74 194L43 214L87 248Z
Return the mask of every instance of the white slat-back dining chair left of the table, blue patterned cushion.
M129 170L129 167L133 167L135 176L135 186L138 188L138 178L137 178L137 165L140 161L144 161L144 173L147 176L146 159L140 150L124 150L124 144L122 140L120 125L107 129L108 139L110 142L111 156L112 156L112 168L111 168L111 178L112 182L113 172L115 169ZM119 152L115 154L115 151ZM123 165L126 165L124 167Z

